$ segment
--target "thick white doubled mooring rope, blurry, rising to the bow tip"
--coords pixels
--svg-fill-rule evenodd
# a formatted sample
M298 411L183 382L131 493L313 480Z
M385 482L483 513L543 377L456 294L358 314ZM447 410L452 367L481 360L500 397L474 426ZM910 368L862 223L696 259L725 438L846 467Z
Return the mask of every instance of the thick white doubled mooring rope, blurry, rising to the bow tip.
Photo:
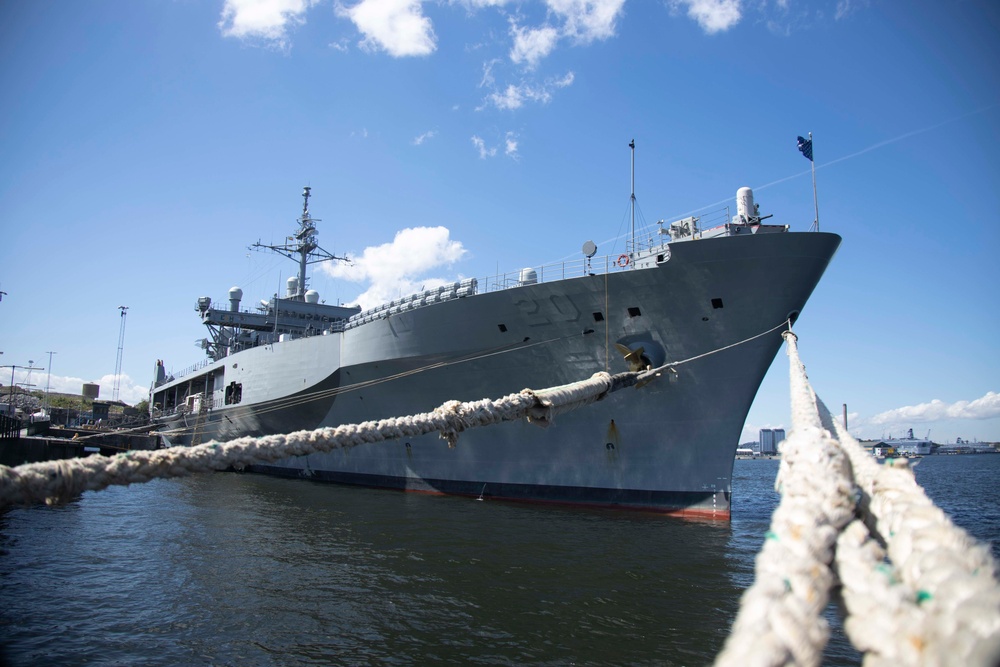
M844 628L865 665L1000 664L989 548L934 506L905 463L879 466L862 450L809 385L794 334L785 340L792 429L775 481L782 499L716 665L820 664L822 613L838 581Z

